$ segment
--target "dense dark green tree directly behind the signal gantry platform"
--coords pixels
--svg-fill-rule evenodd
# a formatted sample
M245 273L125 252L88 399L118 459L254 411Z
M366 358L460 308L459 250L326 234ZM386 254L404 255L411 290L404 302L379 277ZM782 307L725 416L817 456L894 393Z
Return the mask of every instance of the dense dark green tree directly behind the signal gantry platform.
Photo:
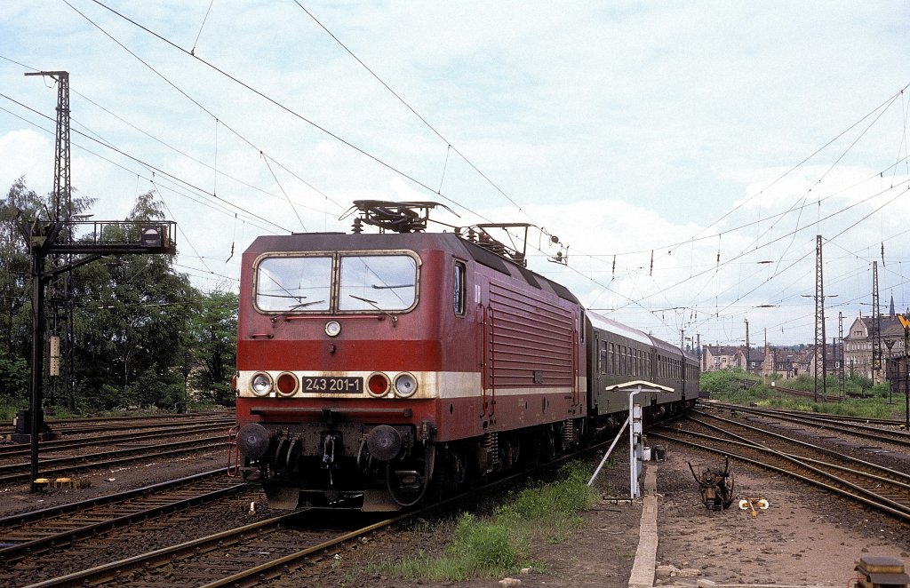
M135 223L164 218L153 192L136 198L129 224L107 227L110 238L138 238ZM122 231L122 235L117 235ZM185 330L196 290L169 256L110 256L76 276L78 382L82 408L176 407L181 400Z

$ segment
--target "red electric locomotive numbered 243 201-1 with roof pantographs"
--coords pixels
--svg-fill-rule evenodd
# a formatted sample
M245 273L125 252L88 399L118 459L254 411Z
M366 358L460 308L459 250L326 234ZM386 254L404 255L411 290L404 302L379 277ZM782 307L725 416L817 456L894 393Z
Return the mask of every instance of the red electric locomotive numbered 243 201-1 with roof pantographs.
M270 506L397 510L577 443L578 300L490 225L425 233L435 203L355 205L353 234L243 256L235 459Z

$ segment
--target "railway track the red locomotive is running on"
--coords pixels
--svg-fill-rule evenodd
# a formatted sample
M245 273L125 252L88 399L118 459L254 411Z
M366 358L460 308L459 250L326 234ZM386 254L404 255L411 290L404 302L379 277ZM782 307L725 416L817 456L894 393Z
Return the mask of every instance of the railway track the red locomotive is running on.
M604 448L606 444L587 448L583 453L592 453ZM566 455L541 467L557 467L563 461L577 457L577 454ZM4 584L8 579L25 577L31 582L28 585L33 587L114 583L131 586L255 585L279 578L288 568L299 568L305 563L316 563L317 567L313 568L313 573L318 574L319 564L329 565L332 560L325 559L326 556L337 553L342 543L377 532L393 523L404 522L413 517L429 516L431 511L450 510L454 506L470 504L476 501L478 493L489 495L492 491L500 492L511 488L514 483L526 479L527 476L528 472L516 473L473 492L437 502L427 509L404 512L393 518L378 520L374 516L369 519L369 524L363 524L369 517L369 514L364 513L355 513L355 516L349 518L349 522L345 522L348 517L339 512L302 511L230 530L222 529L200 537L191 534L197 531L198 525L194 527L190 523L191 529L187 531L186 522L172 523L162 520L160 516L149 519L141 514L131 514L122 528L118 527L108 534L99 533L100 536L94 534L89 536L82 532L70 540L74 542L71 547L48 552L47 559L41 554L25 557L15 564L15 569L10 570L12 575L0 576L0 584ZM155 498L152 497L150 500L154 501ZM255 500L261 500L261 493ZM244 503L237 497L230 501L227 507L224 505L220 507L220 512L203 518L223 519L226 509L228 512L231 510L237 512L238 503ZM201 516L197 513L197 508L189 508L185 512L187 516L191 514ZM266 511L263 513L268 514ZM241 520L243 518L240 517ZM111 527L117 526L107 524ZM38 528L40 529L40 526ZM166 530L173 538L161 536ZM156 542L149 541L147 539L149 535L154 537ZM54 540L44 539L43 542L50 544ZM175 542L177 544L172 544ZM116 558L104 555L110 553L111 543L120 545L123 550ZM142 546L146 546L146 549L140 553L137 550L142 549ZM21 549L19 553L22 553ZM81 557L79 553L85 553L86 556ZM5 553L0 552L0 562L3 562L5 557ZM115 559L116 561L112 561ZM49 577L51 574L62 575ZM314 576L314 583L318 583L318 576Z

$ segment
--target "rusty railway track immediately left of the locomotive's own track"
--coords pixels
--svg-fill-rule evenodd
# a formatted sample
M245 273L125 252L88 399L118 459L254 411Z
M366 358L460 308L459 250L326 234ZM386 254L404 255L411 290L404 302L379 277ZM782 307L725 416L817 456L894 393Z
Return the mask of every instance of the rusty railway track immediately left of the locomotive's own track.
M26 556L116 527L236 495L249 486L227 477L225 469L206 471L127 492L107 494L38 511L0 518L0 561ZM9 578L0 576L0 583Z

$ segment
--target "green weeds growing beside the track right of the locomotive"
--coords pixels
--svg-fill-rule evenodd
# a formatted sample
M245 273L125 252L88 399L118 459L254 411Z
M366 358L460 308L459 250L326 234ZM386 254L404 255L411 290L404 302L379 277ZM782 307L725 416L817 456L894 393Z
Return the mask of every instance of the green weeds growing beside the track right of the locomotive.
M571 462L555 482L541 483L507 497L507 502L487 516L464 512L442 522L434 532L448 534L451 542L439 554L407 555L395 563L368 566L369 573L407 580L464 582L472 578L497 578L530 567L534 542L560 543L581 524L580 512L590 509L598 491L587 485L591 465Z

